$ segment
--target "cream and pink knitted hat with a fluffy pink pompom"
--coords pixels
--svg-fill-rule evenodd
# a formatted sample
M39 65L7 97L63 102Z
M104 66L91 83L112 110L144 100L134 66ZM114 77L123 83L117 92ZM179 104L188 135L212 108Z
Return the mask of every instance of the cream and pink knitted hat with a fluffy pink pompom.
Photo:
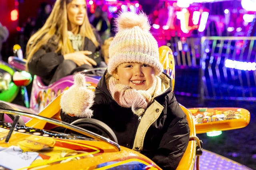
M162 72L159 61L158 43L150 33L148 17L143 12L121 13L116 18L117 33L109 47L108 72L122 63L133 62L148 64L158 75Z

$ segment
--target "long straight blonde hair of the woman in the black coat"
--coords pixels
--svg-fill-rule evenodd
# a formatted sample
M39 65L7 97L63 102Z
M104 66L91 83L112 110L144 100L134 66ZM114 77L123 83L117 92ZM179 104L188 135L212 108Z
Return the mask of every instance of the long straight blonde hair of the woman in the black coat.
M72 0L56 0L51 14L42 28L30 37L26 45L27 64L34 53L38 51L42 45L47 44L48 40L54 35L56 35L57 38L55 41L58 43L56 52L61 51L62 55L74 52L71 41L68 39L68 15L66 7L70 2L72 2ZM82 35L83 38L88 37L92 40L96 47L100 45L93 33L87 14L84 23L80 26L79 34Z

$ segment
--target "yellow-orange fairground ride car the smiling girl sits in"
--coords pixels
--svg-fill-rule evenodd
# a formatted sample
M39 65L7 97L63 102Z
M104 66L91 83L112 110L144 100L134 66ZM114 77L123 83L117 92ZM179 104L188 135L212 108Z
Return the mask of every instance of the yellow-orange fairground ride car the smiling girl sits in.
M167 46L159 48L160 61L172 78L174 56ZM78 119L73 123L60 120L58 95L38 114L0 103L0 166L4 169L86 169L86 170L160 170L152 160L118 145L114 132L95 119ZM199 170L204 153L197 133L245 127L250 113L242 108L186 108L190 141L177 170ZM9 119L11 117L11 119ZM29 120L24 122L24 117ZM64 133L58 128L65 128ZM13 160L13 161L11 161ZM17 162L17 163L16 163ZM234 163L234 162L233 162Z

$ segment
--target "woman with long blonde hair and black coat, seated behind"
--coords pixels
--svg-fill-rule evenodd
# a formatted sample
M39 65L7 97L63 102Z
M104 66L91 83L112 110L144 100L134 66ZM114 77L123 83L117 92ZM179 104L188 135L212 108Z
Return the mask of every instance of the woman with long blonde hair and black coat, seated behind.
M101 39L87 16L86 0L56 0L45 24L26 46L26 68L48 85L74 69L102 64Z

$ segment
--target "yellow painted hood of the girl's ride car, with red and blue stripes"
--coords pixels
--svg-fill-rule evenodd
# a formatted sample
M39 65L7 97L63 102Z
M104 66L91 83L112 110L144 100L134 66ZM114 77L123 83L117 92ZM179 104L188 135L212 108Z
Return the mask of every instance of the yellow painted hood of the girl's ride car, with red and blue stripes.
M127 149L113 152L106 143L89 137L76 137L32 127L18 125L12 134L12 140L5 143L10 127L11 123L0 122L0 168L22 170L46 168L56 164L62 168L70 168L74 165L66 163L74 161L85 164L88 169L158 169L148 159L131 154ZM10 162L11 159L16 163Z

